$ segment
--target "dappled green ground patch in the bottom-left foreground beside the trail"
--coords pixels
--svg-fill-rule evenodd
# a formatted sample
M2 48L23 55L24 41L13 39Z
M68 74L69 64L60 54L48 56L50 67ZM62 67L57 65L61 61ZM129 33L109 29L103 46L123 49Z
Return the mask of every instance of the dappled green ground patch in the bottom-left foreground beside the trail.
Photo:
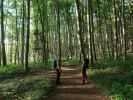
M4 100L40 100L51 89L52 83L43 76L27 76L2 81L0 96Z

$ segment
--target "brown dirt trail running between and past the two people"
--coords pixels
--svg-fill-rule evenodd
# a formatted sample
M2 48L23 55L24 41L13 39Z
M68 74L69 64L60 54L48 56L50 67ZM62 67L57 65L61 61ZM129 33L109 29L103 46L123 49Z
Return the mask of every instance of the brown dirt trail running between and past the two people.
M48 77L55 79L54 72ZM82 85L81 69L77 66L62 67L61 85L46 100L106 100L99 89L89 80Z

